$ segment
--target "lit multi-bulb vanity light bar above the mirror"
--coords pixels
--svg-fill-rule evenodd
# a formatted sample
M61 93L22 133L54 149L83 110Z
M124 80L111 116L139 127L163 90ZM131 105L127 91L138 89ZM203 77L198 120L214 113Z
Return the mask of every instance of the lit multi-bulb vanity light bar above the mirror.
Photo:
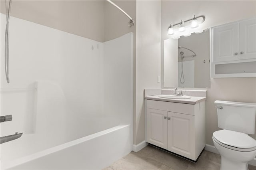
M203 28L200 24L205 21L205 16L201 15L196 17L194 15L190 20L181 20L178 24L170 24L168 27L168 35L170 38L178 39L180 36L190 36L192 33L199 34L203 32Z

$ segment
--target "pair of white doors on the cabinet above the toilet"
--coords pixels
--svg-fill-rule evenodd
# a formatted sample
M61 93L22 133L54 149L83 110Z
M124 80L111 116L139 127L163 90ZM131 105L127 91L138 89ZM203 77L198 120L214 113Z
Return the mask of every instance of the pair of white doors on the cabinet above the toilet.
M213 61L256 58L256 20L244 20L212 28Z

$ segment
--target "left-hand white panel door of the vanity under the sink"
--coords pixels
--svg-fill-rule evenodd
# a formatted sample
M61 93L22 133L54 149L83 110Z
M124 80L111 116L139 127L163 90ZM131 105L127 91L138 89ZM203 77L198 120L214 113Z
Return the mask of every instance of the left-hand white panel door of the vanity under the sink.
M147 108L147 142L167 149L167 111Z

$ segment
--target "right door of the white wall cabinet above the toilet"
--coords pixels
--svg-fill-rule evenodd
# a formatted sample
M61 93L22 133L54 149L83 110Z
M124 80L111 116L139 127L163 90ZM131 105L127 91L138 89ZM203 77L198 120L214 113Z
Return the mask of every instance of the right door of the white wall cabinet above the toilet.
M239 59L256 58L256 19L239 23Z

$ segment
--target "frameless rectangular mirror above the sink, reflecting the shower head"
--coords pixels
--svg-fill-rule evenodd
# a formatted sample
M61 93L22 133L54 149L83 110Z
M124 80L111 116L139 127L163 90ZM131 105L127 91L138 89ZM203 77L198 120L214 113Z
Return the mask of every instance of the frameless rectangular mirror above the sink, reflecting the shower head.
M164 40L164 87L210 87L210 30Z

